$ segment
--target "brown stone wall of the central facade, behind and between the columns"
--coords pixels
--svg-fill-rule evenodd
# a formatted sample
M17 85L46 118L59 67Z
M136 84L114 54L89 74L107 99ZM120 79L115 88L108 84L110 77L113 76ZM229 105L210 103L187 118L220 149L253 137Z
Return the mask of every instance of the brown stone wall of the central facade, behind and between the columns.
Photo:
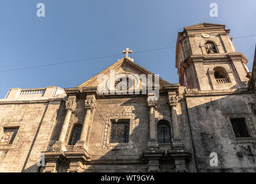
M67 131L66 144L69 139L71 127L73 124L84 122L85 108L84 100L77 100L77 108L71 116L69 130ZM189 124L187 124L187 114L185 108L185 102L182 102L183 111L181 112L181 106L179 106L179 120L182 121L182 137L186 140L185 147L192 149L191 138L189 133ZM65 109L62 108L62 116L65 116ZM88 128L87 142L88 153L91 155L91 162L86 164L85 172L146 172L148 170L148 164L146 160L141 158L142 150L147 149L148 144L148 122L149 122L149 109L146 102L146 95L137 95L135 97L97 97L96 109L93 110L93 116L91 118L91 125ZM109 134L107 129L107 121L111 118L119 117L130 118L131 123L131 135L133 136L132 144L123 146L122 144L110 145L106 143L107 135ZM171 112L170 107L167 104L167 94L161 94L157 102L155 112L156 125L159 120L168 120L171 124ZM59 120L63 121L60 117ZM59 121L58 120L58 121ZM133 127L134 126L134 127ZM54 135L52 136L51 143L54 143L54 139L58 140L59 132L61 131L61 122L57 122ZM130 135L130 136L131 136ZM106 139L104 138L106 136ZM171 149L171 144L159 145L161 150ZM67 145L67 148L71 149L71 146ZM191 150L193 152L193 150ZM191 159L193 160L193 159ZM174 161L167 159L161 162L161 171L174 171ZM195 171L193 161L190 163L190 170ZM69 163L62 168L62 172L65 172ZM193 165L193 166L192 166Z

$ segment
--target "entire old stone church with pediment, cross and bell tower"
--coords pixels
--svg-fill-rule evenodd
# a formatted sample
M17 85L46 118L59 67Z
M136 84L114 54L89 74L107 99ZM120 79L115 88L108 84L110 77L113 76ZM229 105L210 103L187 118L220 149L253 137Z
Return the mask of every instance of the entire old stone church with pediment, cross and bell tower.
M0 172L256 172L256 59L225 25L178 33L179 83L123 52L77 87L10 89Z

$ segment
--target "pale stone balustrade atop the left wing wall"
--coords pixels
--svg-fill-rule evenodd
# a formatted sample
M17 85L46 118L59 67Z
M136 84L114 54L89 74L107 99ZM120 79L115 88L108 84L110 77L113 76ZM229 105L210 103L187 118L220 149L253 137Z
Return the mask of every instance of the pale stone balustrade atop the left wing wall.
M12 88L9 89L5 99L42 99L49 97L62 98L65 97L66 93L61 87L48 86L46 88L36 89L20 89Z

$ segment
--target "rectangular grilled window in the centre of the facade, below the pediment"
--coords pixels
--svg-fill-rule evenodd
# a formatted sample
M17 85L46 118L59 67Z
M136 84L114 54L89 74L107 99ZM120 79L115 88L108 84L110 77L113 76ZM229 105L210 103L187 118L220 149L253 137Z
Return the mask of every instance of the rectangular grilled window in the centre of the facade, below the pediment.
M110 143L129 143L129 120L111 121Z

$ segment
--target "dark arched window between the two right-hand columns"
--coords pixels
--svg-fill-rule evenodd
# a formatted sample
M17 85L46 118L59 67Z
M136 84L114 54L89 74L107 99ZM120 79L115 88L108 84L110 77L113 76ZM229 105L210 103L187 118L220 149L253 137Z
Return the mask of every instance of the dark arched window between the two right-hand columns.
M157 123L157 142L171 143L171 128L167 120L161 120Z

